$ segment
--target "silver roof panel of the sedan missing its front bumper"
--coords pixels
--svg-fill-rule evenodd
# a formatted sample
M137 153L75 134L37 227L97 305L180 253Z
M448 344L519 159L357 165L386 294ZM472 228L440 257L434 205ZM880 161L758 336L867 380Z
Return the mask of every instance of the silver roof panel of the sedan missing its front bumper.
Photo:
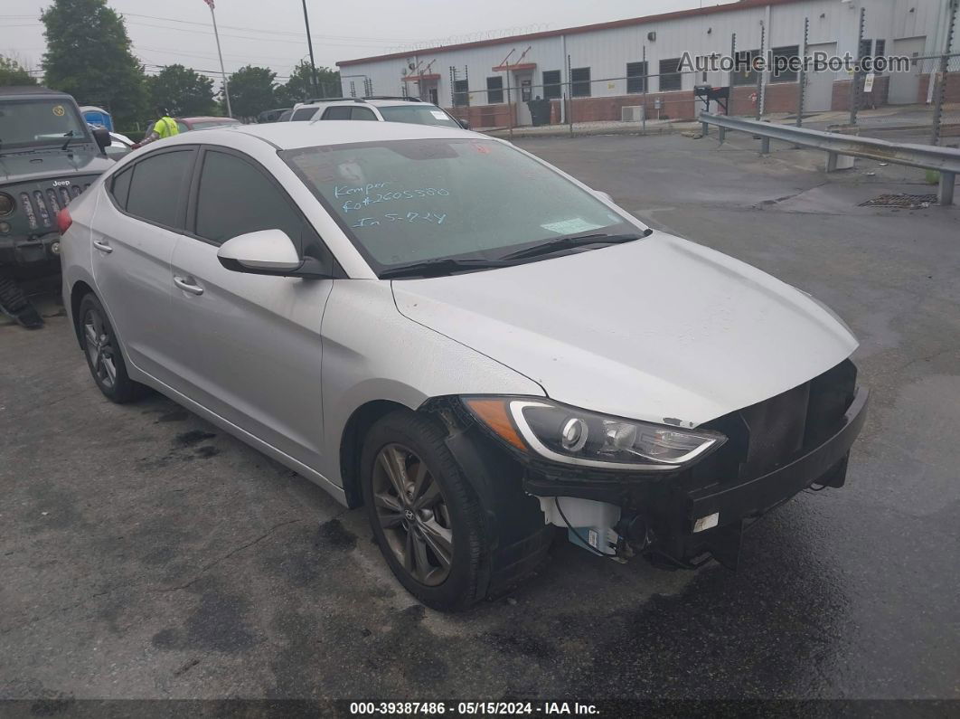
M174 138L164 140L180 143L231 143L237 133L259 137L279 150L295 150L302 147L317 147L321 145L346 145L353 142L376 142L383 140L415 140L415 139L443 139L468 138L491 139L486 135L468 132L456 128L446 128L438 125L414 125L405 122L354 122L352 120L324 120L317 122L273 122L261 125L240 125L223 130L204 130L197 137L190 134L179 134Z

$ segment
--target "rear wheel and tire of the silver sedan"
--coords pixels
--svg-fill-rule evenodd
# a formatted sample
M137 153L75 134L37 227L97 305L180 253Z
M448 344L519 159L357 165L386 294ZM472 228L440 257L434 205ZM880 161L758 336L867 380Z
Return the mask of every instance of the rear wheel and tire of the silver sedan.
M104 396L111 402L125 404L146 395L149 392L147 387L134 382L127 373L116 332L104 305L92 293L84 295L80 301L76 322L86 366Z

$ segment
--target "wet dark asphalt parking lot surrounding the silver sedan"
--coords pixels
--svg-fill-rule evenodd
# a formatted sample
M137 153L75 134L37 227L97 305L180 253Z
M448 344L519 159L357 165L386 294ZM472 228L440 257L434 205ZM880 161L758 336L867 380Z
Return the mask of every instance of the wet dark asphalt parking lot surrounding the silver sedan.
M159 395L109 403L47 296L43 330L0 324L0 698L960 699L960 210L857 206L935 190L746 136L517 144L852 326L873 403L847 486L759 523L735 574L558 541L444 615L361 510Z

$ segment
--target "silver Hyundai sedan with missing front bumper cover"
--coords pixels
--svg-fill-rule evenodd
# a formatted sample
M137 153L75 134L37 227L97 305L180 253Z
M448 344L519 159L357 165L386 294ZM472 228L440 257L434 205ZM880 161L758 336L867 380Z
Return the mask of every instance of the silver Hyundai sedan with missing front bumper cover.
M840 487L850 330L502 140L400 123L188 132L60 212L97 386L146 387L365 505L396 577L457 609L544 559L737 561Z

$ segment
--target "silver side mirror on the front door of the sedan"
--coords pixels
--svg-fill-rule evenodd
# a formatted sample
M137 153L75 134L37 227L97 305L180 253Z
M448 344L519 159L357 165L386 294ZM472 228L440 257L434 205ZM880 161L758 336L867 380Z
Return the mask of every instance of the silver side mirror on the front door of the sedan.
M297 248L282 229L261 229L229 239L217 251L217 259L232 272L322 279L329 277L319 260L300 258Z

